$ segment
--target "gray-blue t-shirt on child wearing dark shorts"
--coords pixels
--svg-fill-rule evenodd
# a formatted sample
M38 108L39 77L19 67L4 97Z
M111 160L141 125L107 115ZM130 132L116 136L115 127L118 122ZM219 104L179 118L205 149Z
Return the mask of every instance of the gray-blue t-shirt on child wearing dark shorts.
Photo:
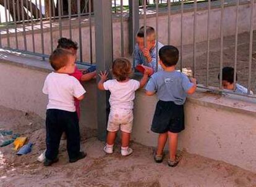
M159 100L174 101L176 105L183 105L186 101L186 92L193 85L189 78L179 71L160 71L151 76L146 90L156 92Z

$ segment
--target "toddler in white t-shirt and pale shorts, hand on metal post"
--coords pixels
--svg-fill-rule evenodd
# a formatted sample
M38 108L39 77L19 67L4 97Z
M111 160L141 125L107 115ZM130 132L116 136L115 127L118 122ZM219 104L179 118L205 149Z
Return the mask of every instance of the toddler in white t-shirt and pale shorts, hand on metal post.
M122 156L127 156L132 153L132 149L129 148L129 140L134 119L132 109L134 108L135 91L145 86L150 72L146 70L140 82L130 79L129 75L132 73L132 66L126 58L114 60L112 69L115 79L106 81L108 73L105 71L99 74L101 80L98 83L98 89L111 92L109 98L111 109L107 128L108 136L104 151L109 154L113 153L114 140L120 126L122 134L121 154Z

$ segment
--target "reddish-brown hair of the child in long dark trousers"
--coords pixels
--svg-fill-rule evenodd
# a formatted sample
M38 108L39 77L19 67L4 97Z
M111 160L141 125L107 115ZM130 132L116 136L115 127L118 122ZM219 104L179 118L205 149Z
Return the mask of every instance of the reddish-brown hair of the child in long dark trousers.
M74 55L65 49L55 49L49 57L49 62L55 71L58 71L69 62L69 55Z

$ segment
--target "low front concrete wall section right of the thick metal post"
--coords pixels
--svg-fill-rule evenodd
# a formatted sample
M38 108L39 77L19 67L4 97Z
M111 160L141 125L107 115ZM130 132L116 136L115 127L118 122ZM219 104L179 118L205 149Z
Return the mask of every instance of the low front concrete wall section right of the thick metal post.
M156 97L137 92L132 138L157 146L158 134L151 132ZM179 134L179 149L238 165L256 172L256 101L197 92L185 105L186 129Z

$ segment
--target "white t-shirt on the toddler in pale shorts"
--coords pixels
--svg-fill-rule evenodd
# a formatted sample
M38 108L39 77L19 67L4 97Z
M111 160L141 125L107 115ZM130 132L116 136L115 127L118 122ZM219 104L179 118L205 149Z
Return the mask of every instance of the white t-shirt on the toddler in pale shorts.
M105 90L111 92L109 103L111 109L133 109L135 91L139 89L140 82L130 79L127 82L118 82L116 79L108 80L103 84Z

